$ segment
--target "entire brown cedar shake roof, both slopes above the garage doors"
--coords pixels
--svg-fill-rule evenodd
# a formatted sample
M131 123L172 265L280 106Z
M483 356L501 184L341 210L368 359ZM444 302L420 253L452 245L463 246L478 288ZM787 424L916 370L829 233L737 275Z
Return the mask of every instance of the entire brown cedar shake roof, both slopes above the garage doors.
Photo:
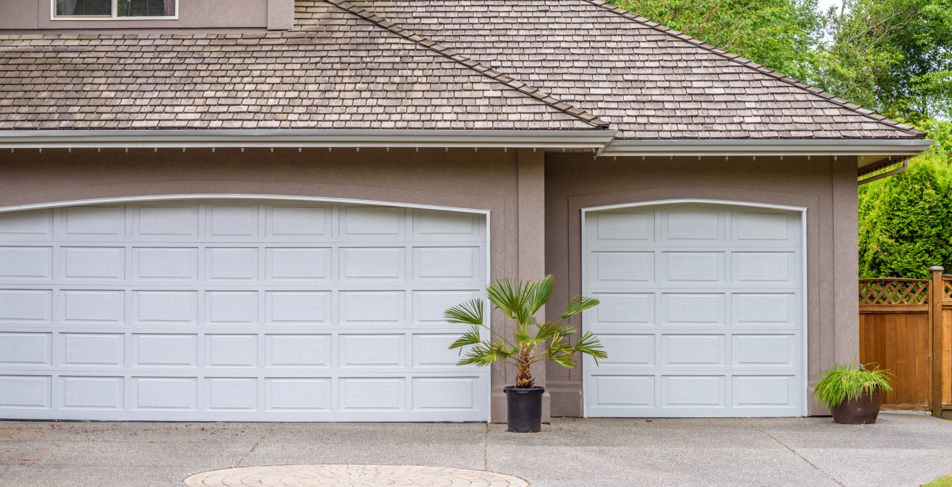
M296 0L296 32L0 34L0 129L922 138L599 0Z

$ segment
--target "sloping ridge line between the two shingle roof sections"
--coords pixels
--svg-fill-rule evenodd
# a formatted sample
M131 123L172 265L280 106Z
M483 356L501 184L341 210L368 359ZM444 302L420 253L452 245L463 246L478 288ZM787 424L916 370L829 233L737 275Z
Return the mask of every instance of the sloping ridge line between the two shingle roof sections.
M577 107L573 107L565 103L564 101L559 100L558 98L555 98L554 96L548 93L545 93L539 88L530 87L526 83L523 83L511 76L506 76L505 74L493 68L488 68L486 66L483 66L483 64L478 61L474 61L473 59L467 56L464 56L463 54L460 54L459 52L456 52L452 49L448 49L444 46L441 46L440 44L437 44L436 42L427 39L426 37L414 32L413 30L399 27L397 24L388 21L386 18L381 17L380 15L377 15L376 13L373 13L371 11L357 7L356 5L352 4L351 2L347 0L324 0L324 1L326 1L330 5L333 5L334 7L337 7L338 9L347 10L348 12L353 13L354 15L357 15L358 17L364 20L367 20L367 22L375 24L383 29L387 29L401 37L404 37L410 41L413 41L416 44L419 44L420 46L423 46L426 49L430 49L440 55L443 55L444 57L452 61L455 61L463 66L466 66L466 68L473 69L474 71L479 72L480 74L483 74L487 78L493 79L499 83L502 83L503 85L506 85L506 87L513 88L523 94L531 96L532 98L539 100L540 102L544 103L545 105L548 105L549 107L553 107L558 110L564 111L565 113L568 113L569 115L572 115L587 124L591 124L595 127L600 127L600 128L607 128L609 126L608 122L605 122L604 120L596 117L595 115L591 113L588 113L585 110L579 109Z

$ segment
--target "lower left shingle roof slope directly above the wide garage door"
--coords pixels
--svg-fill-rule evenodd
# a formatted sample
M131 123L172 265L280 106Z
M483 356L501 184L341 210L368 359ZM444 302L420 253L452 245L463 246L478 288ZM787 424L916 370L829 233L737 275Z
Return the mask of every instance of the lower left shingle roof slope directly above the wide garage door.
M319 34L4 37L0 129L597 128L364 21Z

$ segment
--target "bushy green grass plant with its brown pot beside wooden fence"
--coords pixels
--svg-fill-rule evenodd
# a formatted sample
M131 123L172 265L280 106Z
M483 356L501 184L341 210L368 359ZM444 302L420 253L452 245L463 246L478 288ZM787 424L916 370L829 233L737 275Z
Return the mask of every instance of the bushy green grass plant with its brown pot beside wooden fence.
M886 370L870 370L862 363L857 368L855 359L849 365L833 362L817 374L821 380L813 389L813 397L829 408L834 422L872 424L880 414L883 391L892 390L888 375Z

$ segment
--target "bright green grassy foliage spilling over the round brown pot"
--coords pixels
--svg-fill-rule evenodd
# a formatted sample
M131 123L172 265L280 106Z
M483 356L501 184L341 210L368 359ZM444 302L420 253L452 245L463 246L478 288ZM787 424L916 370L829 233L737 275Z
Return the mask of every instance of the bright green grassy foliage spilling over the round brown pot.
M866 365L872 365L867 363ZM830 368L817 374L822 378L813 389L813 397L828 409L839 406L843 401L858 399L865 394L872 395L877 390L891 391L887 370L866 368L866 365L856 366L856 359L849 365L833 362Z

